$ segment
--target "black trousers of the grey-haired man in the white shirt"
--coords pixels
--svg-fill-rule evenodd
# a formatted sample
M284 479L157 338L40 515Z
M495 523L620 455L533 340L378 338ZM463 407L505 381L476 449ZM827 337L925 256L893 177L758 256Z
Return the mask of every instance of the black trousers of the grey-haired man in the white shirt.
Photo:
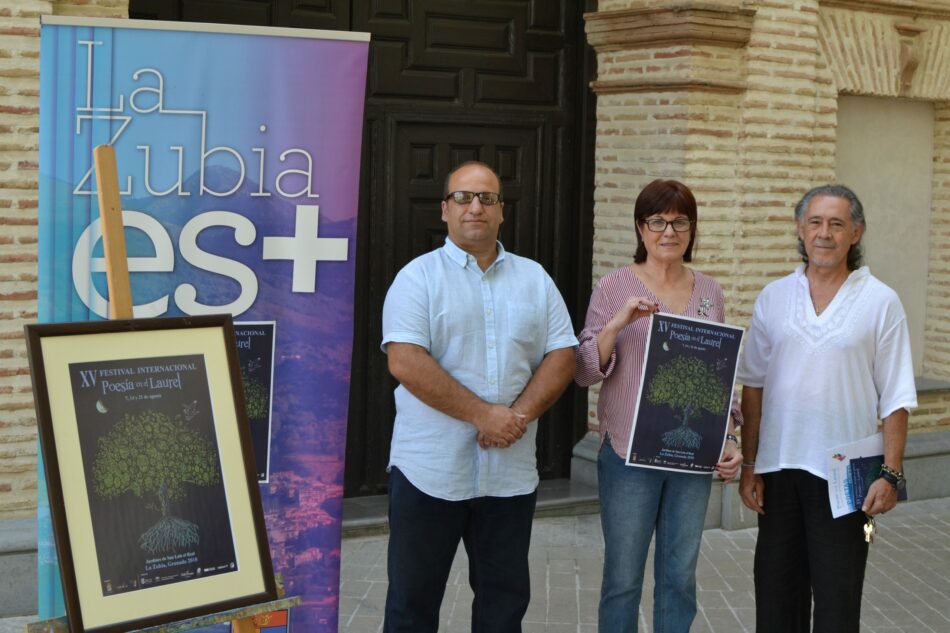
M831 517L828 482L804 470L762 476L755 546L758 633L858 633L868 544L864 513Z

